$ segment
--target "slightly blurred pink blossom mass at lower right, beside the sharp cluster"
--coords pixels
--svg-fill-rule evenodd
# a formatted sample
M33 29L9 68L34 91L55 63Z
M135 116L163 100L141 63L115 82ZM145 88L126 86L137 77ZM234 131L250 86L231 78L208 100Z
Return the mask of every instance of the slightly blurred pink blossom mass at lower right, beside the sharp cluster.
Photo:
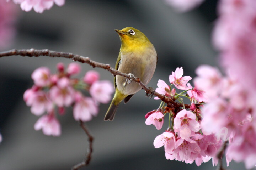
M209 103L202 108L203 134L217 134L229 140L226 149L227 165L231 160L244 161L247 169L256 165L256 115L255 92L235 78L234 74L222 76L217 68L200 66L194 83L204 87Z

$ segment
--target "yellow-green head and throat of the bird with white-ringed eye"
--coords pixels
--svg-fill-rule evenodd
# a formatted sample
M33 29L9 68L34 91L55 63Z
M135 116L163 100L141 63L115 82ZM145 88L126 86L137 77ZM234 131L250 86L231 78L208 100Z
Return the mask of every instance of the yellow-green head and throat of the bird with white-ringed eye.
M126 27L122 30L115 29L119 34L122 45L121 51L140 51L152 45L149 39L138 29Z

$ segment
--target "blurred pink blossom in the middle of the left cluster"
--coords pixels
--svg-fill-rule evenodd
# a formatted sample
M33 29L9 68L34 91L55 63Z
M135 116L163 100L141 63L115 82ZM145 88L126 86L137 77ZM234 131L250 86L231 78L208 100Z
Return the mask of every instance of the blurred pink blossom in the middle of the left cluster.
M68 107L74 101L74 89L69 86L69 79L66 77L59 79L57 86L53 86L49 93L52 101L59 107Z

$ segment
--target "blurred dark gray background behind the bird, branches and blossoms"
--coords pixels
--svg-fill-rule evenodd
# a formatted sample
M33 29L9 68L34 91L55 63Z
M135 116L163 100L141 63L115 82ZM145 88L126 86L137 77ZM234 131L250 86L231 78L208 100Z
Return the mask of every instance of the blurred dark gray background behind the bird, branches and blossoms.
M183 66L185 75L194 77L200 64L218 63L211 45L216 4L217 0L207 0L184 14L176 13L164 0L66 0L64 6L54 5L43 14L18 8L18 33L6 50L33 47L71 52L114 67L121 45L114 29L135 27L148 36L158 52L156 72L149 83L155 89L157 81L168 82L177 67ZM58 62L67 66L72 61L20 56L0 59L0 129L4 137L0 144L0 170L68 170L85 157L87 138L73 119L71 108L59 117L62 135L46 136L33 129L38 117L30 113L22 98L33 84L33 70L47 66L55 72ZM91 69L83 64L80 77ZM101 79L113 80L109 72L95 70ZM211 161L197 167L195 163L166 160L164 148L154 148L155 137L167 125L158 131L145 124L144 116L159 104L146 98L142 90L129 103L119 106L113 122L103 121L108 104L102 104L98 117L87 123L95 141L91 163L85 169L216 169ZM241 170L244 165L231 163L229 169Z

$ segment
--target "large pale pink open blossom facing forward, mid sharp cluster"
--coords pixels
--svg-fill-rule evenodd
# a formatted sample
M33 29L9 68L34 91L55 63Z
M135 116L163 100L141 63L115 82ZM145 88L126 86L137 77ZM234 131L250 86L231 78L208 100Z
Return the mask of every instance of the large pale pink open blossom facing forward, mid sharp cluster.
M174 118L174 129L178 132L182 139L188 139L191 132L198 132L200 124L196 121L196 115L183 109L178 112Z

